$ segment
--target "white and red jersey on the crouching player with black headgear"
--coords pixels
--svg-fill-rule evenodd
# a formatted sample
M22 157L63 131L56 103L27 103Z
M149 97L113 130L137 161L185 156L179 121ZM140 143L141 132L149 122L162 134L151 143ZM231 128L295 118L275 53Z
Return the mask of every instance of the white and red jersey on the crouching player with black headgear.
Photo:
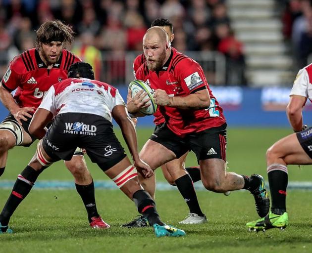
M55 116L61 113L89 113L111 119L111 111L125 102L115 87L90 79L68 78L48 90L38 108Z

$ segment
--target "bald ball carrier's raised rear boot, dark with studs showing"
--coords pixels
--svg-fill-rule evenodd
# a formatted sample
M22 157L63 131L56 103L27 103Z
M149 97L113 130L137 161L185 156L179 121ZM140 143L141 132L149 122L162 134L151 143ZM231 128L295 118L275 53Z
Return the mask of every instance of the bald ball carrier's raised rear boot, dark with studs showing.
M259 186L250 192L254 195L258 215L263 218L266 214L268 214L270 209L270 199L265 189L264 179L258 174L252 174L251 179L259 181Z

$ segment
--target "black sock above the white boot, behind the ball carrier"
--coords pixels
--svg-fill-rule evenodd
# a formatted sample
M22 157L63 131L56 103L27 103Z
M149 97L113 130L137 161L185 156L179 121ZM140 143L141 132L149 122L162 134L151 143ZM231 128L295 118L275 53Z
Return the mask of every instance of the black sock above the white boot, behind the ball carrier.
M193 186L192 179L188 174L179 177L177 180L174 181L176 186L178 187L182 197L186 201L186 204L188 205L191 213L196 213L199 216L204 216L204 213L202 212L196 192Z

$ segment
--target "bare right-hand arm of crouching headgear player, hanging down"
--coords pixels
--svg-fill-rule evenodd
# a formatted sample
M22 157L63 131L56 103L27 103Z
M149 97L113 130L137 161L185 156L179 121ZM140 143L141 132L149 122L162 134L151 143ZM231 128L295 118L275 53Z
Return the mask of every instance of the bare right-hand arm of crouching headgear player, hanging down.
M138 171L140 171L141 174L143 174L143 176L151 177L154 174L154 171L139 157L137 134L134 124L127 113L126 107L124 105L116 105L114 106L111 114L121 128L122 135L132 156L134 166L138 169Z

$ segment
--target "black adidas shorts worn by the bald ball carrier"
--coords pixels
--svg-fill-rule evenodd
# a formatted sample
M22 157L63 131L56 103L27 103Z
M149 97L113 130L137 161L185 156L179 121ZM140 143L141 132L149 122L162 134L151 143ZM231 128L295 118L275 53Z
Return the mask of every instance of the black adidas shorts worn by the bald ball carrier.
M198 162L212 158L226 161L226 124L179 137L164 123L155 127L150 139L170 149L177 158L192 150Z

